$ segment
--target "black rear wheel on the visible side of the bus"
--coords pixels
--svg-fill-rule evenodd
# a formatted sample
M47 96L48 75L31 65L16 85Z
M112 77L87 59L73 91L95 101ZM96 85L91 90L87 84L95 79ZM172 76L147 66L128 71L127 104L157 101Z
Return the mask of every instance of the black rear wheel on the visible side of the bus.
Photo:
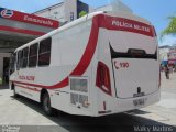
M45 92L43 95L42 106L43 106L43 109L44 109L44 111L47 116L53 116L54 114L54 109L51 107L51 98L50 98L47 92Z

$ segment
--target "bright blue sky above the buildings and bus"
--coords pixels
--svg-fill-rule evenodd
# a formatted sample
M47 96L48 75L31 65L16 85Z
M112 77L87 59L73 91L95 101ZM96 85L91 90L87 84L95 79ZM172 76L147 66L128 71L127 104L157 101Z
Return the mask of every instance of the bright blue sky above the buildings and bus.
M0 0L0 7L33 13L37 10L62 2L63 0ZM110 3L112 0L81 0L97 8ZM147 19L155 26L160 45L176 44L176 36L165 36L162 41L160 35L168 25L168 16L176 16L176 0L121 0L133 13Z

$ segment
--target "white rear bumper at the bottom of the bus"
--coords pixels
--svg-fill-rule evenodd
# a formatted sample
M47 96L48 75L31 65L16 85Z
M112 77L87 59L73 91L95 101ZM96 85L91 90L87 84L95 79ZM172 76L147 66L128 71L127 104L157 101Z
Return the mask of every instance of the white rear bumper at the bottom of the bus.
M111 96L102 96L103 91L98 90L99 96L98 99L98 109L97 109L97 114L95 117L100 117L100 116L107 116L107 114L113 114L113 113L121 113L121 112L128 112L131 110L136 110L136 109L142 109L144 107L151 106L153 103L156 103L161 99L161 94L160 90L156 92L153 92L147 96L143 97L136 97L134 98L128 98L128 99L120 99L120 98L114 98ZM146 102L143 106L134 106L133 101L134 100L140 100L140 99L145 99ZM105 103L106 102L106 103ZM106 105L106 109L105 109Z

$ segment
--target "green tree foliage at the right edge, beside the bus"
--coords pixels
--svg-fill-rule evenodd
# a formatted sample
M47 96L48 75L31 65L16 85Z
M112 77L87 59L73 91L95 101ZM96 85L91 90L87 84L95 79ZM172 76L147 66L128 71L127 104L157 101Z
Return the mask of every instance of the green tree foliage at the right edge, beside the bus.
M176 16L169 16L168 26L162 32L162 36L164 35L176 35Z

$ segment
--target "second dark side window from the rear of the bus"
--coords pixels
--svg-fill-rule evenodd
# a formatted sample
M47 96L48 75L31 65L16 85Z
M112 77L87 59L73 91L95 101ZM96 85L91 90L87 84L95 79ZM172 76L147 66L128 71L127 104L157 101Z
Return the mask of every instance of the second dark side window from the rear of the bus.
M29 67L36 67L36 63L37 63L37 47L38 47L37 43L30 46Z

